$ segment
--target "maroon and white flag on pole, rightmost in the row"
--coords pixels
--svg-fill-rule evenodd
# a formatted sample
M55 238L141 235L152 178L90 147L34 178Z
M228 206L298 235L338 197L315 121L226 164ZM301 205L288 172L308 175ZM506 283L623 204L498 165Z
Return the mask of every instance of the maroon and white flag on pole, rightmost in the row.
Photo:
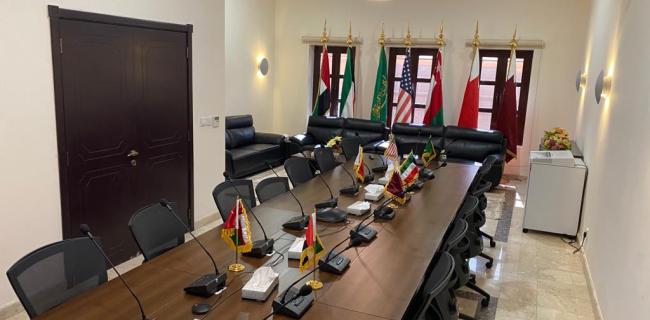
M506 162L517 157L517 142L519 141L517 128L517 85L515 84L515 73L517 69L516 40L513 35L510 49L510 63L508 64L508 74L506 75L506 84L503 88L503 99L496 111L495 129L503 132L508 141L506 146Z

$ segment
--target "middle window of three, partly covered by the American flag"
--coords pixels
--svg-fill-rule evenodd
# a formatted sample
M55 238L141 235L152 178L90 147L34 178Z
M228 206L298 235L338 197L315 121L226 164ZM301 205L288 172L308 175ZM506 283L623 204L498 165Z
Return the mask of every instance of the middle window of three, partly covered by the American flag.
M413 75L413 93L415 101L413 112L411 113L411 123L420 124L424 120L424 111L426 110L427 97L431 86L431 68L433 59L438 53L435 48L411 48L411 75ZM388 90L388 108L389 125L395 120L397 113L397 97L399 96L399 84L402 77L402 68L406 58L406 48L390 48L388 58L388 83L393 90Z

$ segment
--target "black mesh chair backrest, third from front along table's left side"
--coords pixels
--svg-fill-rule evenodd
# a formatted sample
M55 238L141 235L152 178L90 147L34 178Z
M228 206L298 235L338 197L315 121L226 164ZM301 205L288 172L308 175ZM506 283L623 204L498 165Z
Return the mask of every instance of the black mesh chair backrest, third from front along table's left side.
M237 191L239 191L239 193L237 193ZM241 194L242 200L246 202L249 208L253 208L257 205L252 180L241 179L224 181L212 190L212 198L214 198L214 203L217 205L217 209L219 209L219 214L223 221L228 219L228 214L230 213L230 210L235 207L235 201L237 201L239 194Z

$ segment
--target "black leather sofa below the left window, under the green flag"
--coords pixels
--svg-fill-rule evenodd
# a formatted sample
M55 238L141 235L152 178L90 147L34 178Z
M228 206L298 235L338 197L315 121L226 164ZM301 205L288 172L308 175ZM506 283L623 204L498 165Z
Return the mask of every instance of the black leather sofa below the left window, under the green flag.
M307 132L291 137L291 154L312 151L333 137L361 139L364 151L375 152L388 137L388 128L380 121L354 118L309 117ZM383 151L382 151L383 152Z

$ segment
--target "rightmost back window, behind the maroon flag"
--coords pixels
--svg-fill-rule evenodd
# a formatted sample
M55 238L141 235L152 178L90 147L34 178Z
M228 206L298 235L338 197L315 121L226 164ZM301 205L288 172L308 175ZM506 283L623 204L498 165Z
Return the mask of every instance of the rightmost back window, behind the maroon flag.
M492 116L501 103L503 87L508 72L510 50L481 50L480 51L480 89L479 89L479 129L494 128L496 119ZM533 51L517 50L517 68L515 84L517 86L517 125L519 126L519 141L524 139L526 124L526 104L530 86Z

